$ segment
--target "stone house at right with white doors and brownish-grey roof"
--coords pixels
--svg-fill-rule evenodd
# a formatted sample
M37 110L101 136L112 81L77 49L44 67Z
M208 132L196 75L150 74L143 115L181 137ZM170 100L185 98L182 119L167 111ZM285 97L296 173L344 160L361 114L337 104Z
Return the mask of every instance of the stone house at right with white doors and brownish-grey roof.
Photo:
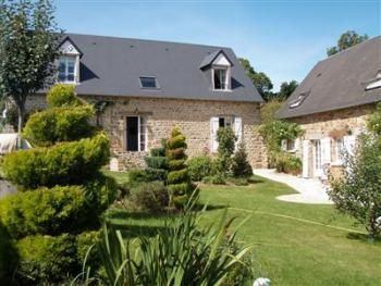
M276 112L305 134L283 149L302 159L303 177L327 179L353 151L367 115L381 101L381 36L318 62Z

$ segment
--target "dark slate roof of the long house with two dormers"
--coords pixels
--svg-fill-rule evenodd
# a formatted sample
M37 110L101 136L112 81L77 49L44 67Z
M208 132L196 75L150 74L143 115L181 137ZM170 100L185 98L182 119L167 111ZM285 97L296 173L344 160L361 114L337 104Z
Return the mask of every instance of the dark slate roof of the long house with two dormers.
M78 95L181 98L261 102L230 48L155 40L66 34L83 53ZM232 91L213 91L200 63L222 51L233 63ZM155 76L159 89L140 88L140 76Z

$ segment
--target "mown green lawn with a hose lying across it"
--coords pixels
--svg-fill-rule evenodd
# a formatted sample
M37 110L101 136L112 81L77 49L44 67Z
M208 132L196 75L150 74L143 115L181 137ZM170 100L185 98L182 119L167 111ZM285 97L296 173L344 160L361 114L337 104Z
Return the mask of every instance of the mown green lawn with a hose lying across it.
M112 174L112 173L109 173ZM115 176L125 182L125 174ZM208 202L205 223L213 223L222 209L239 220L239 243L254 245L258 276L272 285L380 285L381 243L367 241L365 229L332 206L283 202L276 196L293 189L263 178L250 186L202 186ZM109 217L125 235L155 234L162 217L110 211Z

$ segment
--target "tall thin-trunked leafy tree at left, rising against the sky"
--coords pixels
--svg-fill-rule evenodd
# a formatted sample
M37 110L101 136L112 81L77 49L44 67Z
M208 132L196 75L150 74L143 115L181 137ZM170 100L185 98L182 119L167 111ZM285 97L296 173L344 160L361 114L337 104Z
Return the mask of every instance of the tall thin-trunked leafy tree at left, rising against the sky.
M60 33L53 12L50 0L0 0L0 95L17 107L19 135L26 98L49 84L56 71Z

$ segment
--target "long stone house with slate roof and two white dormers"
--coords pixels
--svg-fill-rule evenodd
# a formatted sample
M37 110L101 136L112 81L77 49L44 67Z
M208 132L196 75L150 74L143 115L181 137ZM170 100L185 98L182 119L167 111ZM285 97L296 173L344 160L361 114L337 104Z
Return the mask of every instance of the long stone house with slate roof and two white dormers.
M232 49L75 34L66 34L60 49L58 82L106 107L97 121L119 167L143 166L175 125L190 157L214 153L218 128L231 126L250 164L266 166L258 134L262 98ZM44 109L45 95L29 99L28 109Z

